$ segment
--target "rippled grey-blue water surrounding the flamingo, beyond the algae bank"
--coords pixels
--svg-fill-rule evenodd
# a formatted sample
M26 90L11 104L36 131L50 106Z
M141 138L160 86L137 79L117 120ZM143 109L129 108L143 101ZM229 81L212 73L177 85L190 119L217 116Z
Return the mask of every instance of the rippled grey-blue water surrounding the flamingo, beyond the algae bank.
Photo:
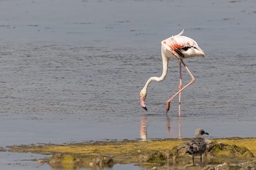
M145 132L147 139L183 138L196 128L212 138L256 137L255 6L253 0L0 1L0 145L134 139ZM162 74L160 42L183 28L206 58L185 60L196 81L182 92L181 117L178 97L165 114L179 85L175 60L165 81L150 84L146 112L139 92ZM182 79L191 80L185 69Z

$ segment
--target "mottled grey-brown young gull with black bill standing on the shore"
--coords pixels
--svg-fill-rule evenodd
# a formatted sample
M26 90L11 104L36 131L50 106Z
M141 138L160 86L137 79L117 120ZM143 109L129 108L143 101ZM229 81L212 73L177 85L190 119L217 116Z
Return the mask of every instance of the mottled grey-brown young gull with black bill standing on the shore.
M200 156L200 165L202 164L202 154L206 151L206 142L203 134L209 135L201 128L196 129L195 138L189 142L187 153L192 155L193 164L194 156Z

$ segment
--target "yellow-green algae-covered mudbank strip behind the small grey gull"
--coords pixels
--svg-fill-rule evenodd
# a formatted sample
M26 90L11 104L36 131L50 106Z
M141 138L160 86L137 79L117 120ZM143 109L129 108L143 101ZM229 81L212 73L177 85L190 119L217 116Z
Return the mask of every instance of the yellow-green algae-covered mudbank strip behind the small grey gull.
M50 159L38 160L54 168L111 167L116 163L137 163L144 166L186 165L192 163L186 154L190 139L161 139L151 141L97 141L67 145L40 144L8 146L11 152L52 154ZM203 155L203 166L239 160L255 164L256 138L206 139L207 151ZM246 159L245 159L246 158ZM199 160L195 161L196 163ZM254 166L254 165L253 165ZM160 167L159 167L160 168Z

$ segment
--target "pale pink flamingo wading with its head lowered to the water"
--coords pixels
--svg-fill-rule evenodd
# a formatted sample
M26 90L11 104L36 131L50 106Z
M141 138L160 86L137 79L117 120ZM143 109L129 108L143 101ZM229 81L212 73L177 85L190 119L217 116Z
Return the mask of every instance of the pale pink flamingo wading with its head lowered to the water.
M161 53L162 53L162 59L163 59L163 73L161 77L150 77L148 81L146 82L145 86L140 92L140 105L143 109L147 111L145 99L147 97L147 88L151 81L163 81L167 75L168 71L168 62L169 59L176 59L179 60L180 64L180 85L179 85L179 91L173 95L167 102L166 102L166 115L170 109L170 102L172 99L179 94L179 116L180 116L180 100L181 100L181 91L187 88L189 85L195 82L194 76L189 71L186 64L183 62L183 59L189 58L189 57L205 57L204 51L197 45L197 43L185 36L181 36L184 32L184 29L176 36L172 36L166 40L163 40L161 42ZM188 74L191 76L192 80L182 88L182 80L181 80L181 63L187 70Z

